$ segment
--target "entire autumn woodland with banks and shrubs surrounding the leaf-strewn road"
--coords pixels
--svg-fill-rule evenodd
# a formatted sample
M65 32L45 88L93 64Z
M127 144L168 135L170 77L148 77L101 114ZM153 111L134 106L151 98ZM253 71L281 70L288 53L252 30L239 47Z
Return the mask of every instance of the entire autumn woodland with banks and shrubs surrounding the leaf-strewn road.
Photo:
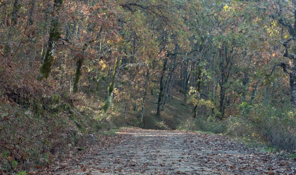
M201 130L296 150L292 0L0 0L0 171L81 133Z

